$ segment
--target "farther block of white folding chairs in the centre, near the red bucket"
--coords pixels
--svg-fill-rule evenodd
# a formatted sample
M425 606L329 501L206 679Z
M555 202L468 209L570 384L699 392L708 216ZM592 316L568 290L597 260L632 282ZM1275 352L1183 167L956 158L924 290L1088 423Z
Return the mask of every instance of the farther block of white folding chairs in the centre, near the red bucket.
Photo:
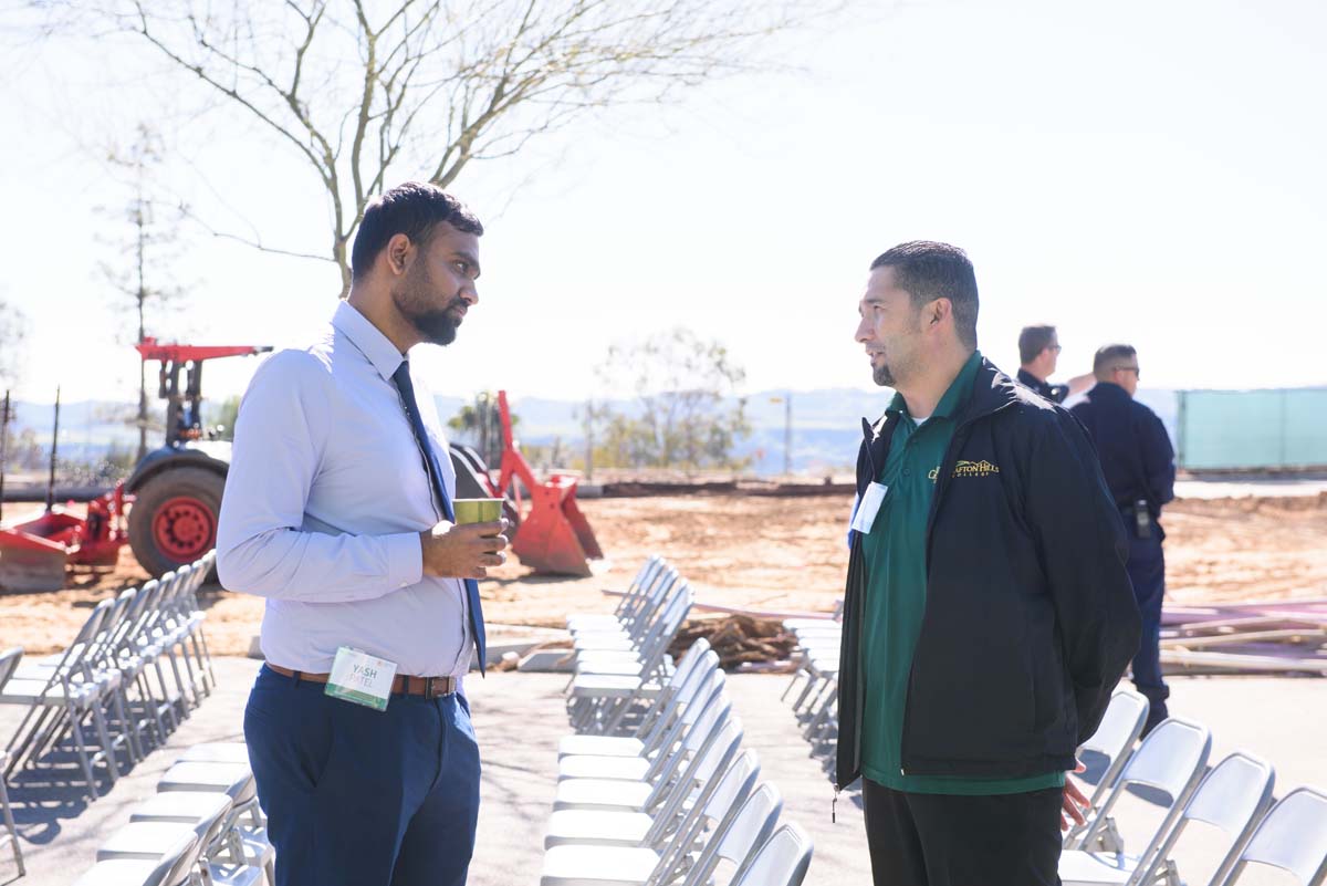
M694 600L677 569L650 557L613 614L568 617L575 674L567 710L573 729L613 733L658 696L674 671L669 647Z

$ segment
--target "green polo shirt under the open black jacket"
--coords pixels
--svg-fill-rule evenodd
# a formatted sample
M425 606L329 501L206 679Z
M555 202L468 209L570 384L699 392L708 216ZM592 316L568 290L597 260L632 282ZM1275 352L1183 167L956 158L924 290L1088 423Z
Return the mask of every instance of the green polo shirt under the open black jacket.
M981 366L974 353L936 412L918 424L904 398L894 395L890 412L898 427L889 458L877 480L888 487L871 532L863 536L867 562L865 618L861 634L861 675L865 710L861 718L861 772L876 784L912 793L998 794L1064 785L1063 772L1026 779L961 779L902 773L904 707L913 650L926 606L926 519L936 476L954 436L954 415L971 397Z

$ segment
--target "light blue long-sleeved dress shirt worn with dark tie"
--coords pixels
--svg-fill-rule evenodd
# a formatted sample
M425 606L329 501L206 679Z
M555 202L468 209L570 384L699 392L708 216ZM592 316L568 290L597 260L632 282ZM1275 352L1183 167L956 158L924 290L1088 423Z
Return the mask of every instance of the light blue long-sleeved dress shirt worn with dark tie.
M398 674L470 668L464 586L423 574L418 533L443 517L391 381L401 361L342 301L325 336L268 358L240 403L216 572L228 590L267 598L273 664L326 674L337 647L353 646ZM411 379L454 497L433 395Z

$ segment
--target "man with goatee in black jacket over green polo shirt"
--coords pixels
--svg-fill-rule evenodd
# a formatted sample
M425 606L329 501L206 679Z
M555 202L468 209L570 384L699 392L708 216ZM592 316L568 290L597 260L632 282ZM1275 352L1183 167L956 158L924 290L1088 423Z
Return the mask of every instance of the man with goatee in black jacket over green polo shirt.
M977 309L942 243L881 255L860 304L897 393L863 420L836 789L864 776L878 885L1059 883L1064 773L1139 642L1092 443L982 358Z

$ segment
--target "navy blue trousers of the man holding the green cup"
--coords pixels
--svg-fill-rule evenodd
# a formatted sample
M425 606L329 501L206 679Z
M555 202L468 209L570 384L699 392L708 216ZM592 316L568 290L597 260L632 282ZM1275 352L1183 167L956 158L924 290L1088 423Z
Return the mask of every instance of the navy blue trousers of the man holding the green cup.
M244 739L276 886L463 886L479 816L468 703L393 695L374 711L263 667Z

